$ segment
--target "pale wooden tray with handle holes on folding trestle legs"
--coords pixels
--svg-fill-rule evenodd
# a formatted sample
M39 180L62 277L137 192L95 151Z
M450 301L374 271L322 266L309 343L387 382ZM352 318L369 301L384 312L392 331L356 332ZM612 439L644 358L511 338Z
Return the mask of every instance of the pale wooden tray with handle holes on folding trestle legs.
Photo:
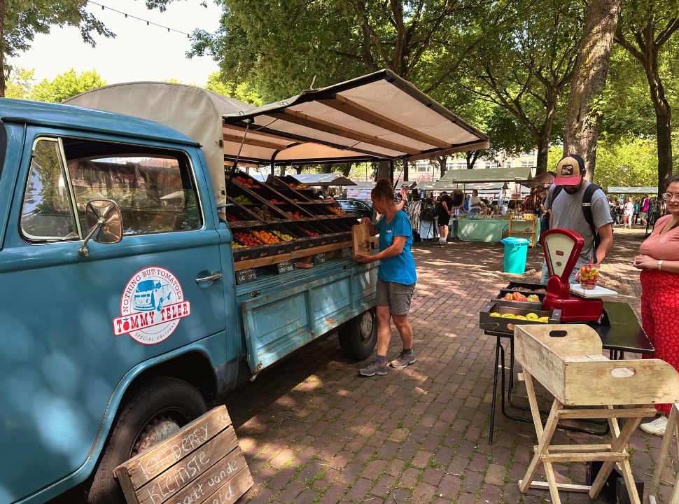
M655 409L639 405L679 402L679 374L658 359L609 360L601 355L601 339L588 325L517 325L514 355L523 367L531 415L538 435L535 454L519 489L549 489L552 502L559 504L559 490L580 491L596 498L613 464L622 470L632 503L640 504L629 465L627 444L645 416ZM549 417L542 426L533 378L554 395ZM614 406L632 406L624 409ZM617 419L626 419L619 428ZM550 444L561 419L606 419L611 440L601 444ZM591 485L557 484L552 463L602 461ZM533 477L540 463L547 482Z

